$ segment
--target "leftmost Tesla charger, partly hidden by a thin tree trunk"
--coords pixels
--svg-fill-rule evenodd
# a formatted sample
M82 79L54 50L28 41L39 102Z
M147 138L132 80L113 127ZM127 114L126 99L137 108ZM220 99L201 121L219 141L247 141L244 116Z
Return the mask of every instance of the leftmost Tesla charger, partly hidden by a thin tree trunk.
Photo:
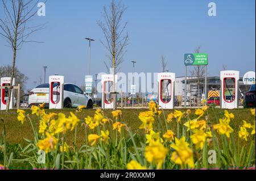
M10 86L11 85L11 78L10 77L2 77L1 78L1 86ZM13 86L15 85L15 78L13 78ZM9 89L2 89L1 90L1 110L6 110L7 107L7 99L9 94ZM11 91L11 99L10 99L10 106L9 109L13 109L14 107L14 89Z

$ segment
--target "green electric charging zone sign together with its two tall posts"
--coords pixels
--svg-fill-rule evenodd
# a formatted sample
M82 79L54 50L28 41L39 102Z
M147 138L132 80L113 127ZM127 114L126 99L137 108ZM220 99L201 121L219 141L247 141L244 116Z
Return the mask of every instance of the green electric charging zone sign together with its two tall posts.
M184 95L184 107L187 107L187 66L189 65L205 65L205 85L204 93L207 98L207 65L208 65L208 54L207 53L186 53L184 54L184 65L185 65L185 95Z

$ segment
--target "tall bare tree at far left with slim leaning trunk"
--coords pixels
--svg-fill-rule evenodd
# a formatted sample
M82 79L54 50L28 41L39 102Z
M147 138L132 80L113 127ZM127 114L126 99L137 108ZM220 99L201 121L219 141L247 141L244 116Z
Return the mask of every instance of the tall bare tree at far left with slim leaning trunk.
M38 42L27 40L32 33L42 30L43 26L28 27L27 23L35 16L37 10L36 6L39 1L34 0L2 0L4 18L0 18L0 35L7 41L13 50L13 62L11 70L11 82L13 82L16 52L22 48L23 43ZM13 86L11 84L7 101L7 109L9 111L11 91Z

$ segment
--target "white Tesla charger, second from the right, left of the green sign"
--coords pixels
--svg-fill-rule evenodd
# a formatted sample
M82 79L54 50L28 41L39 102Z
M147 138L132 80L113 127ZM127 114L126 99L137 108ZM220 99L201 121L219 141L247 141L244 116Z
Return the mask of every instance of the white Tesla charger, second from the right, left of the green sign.
M158 74L158 102L159 108L174 108L175 73Z

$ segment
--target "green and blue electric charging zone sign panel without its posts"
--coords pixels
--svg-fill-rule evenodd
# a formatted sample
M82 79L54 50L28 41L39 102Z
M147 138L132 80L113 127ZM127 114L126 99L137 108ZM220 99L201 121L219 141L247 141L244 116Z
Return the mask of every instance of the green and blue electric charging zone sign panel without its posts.
M208 65L207 53L186 53L184 55L185 65Z

